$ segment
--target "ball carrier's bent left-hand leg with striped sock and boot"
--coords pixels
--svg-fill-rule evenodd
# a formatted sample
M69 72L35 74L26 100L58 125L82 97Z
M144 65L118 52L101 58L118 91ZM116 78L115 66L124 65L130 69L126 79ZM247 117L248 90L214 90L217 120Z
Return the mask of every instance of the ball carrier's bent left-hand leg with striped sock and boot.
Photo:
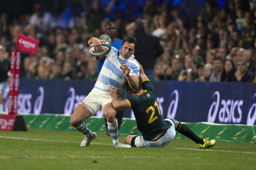
M89 146L90 142L97 137L97 134L95 132L91 132L84 123L84 120L91 116L92 112L82 104L78 104L73 114L71 115L69 121L70 124L85 136L81 146Z

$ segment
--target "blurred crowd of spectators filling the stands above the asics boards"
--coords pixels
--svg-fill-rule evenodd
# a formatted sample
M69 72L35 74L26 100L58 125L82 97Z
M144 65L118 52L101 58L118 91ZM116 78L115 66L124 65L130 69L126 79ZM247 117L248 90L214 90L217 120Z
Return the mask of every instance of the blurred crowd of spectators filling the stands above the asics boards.
M256 82L256 0L230 0L222 9L217 1L205 0L203 11L192 24L180 8L165 1L140 2L144 2L142 15L129 17L123 12L124 17L113 20L107 16L115 11L115 0L108 1L105 9L100 8L99 0L90 1L91 6L82 0L83 11L68 20L56 19L41 4L15 22L1 13L0 55L10 59L17 35L22 33L39 39L40 44L35 56L22 53L21 78L96 80L98 61L89 53L88 40L105 34L109 21L115 24L119 39L135 36L143 23L141 30L156 37L157 48L148 49L154 54L150 60L147 56L140 60L140 49L134 55L143 67L153 70L156 81ZM141 47L148 44L144 40Z

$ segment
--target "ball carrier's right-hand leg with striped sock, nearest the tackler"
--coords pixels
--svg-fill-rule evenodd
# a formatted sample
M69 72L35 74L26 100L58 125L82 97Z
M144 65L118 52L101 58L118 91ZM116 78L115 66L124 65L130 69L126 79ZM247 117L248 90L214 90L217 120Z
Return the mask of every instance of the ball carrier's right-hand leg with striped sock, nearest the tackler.
M114 147L131 147L130 145L121 144L118 140L118 123L115 117L117 111L116 109L114 109L112 103L108 103L105 106L103 106L102 111L104 112L105 117L107 119L108 131L113 140Z

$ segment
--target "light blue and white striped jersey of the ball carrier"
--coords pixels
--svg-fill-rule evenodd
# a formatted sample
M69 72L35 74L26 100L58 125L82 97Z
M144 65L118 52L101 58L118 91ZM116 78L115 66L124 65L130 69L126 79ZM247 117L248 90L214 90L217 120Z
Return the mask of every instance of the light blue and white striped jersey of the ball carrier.
M119 95L122 94L126 78L119 66L127 64L130 68L129 75L139 76L140 74L140 67L133 58L134 55L129 59L124 59L119 55L118 50L112 46L110 52L107 54L94 88L109 92L110 87L113 87L117 89Z

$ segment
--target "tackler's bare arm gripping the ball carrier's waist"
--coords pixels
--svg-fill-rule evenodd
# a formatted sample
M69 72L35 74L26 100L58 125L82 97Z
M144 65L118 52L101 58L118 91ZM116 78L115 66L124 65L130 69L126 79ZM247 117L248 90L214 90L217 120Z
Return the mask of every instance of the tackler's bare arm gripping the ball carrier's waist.
M110 87L109 95L113 97L112 104L116 110L125 110L130 108L127 100L122 100L117 97L117 89Z

